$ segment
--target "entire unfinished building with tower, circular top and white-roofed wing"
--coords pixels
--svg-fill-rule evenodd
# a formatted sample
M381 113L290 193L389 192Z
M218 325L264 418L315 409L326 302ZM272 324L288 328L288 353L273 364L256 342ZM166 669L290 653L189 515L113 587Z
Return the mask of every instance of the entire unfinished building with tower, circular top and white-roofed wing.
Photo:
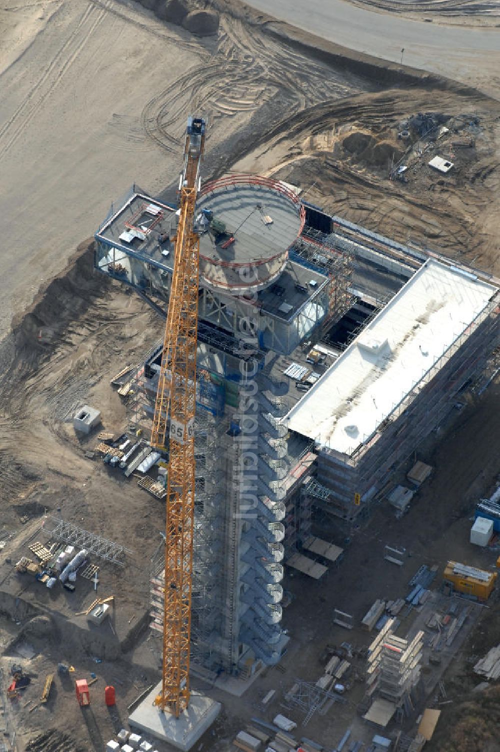
M298 193L232 175L202 188L195 214L192 660L232 675L283 654L283 564L311 538L312 505L345 519L368 505L481 368L498 306L491 284L405 256ZM173 207L132 190L95 235L95 268L165 315L176 228ZM131 390L130 428L145 438L161 355L147 353ZM158 633L162 566L159 550Z

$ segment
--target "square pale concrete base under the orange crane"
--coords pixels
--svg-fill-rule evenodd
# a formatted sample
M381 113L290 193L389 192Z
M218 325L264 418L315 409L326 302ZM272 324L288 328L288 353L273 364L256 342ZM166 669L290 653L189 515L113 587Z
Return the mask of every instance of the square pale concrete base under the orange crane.
M210 728L220 713L220 702L210 699L198 692L192 692L189 708L179 718L168 711L162 713L153 705L156 696L162 690L162 682L152 690L129 716L129 725L171 744L179 750L191 749L192 745Z

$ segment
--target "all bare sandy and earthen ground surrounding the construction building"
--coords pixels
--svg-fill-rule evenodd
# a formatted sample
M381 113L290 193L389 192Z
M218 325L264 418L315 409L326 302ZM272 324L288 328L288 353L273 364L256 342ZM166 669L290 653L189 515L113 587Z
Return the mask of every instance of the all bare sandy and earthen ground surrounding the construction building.
M332 213L498 274L498 105L435 77L312 55L225 15L216 38L199 39L132 2L41 0L20 8L5 0L0 24L6 41L0 53L0 226L8 249L0 260L0 336L7 335L0 343L0 532L16 532L2 551L2 565L23 536L36 534L46 510L61 514L132 549L125 572L102 573L103 590L116 594L116 608L128 623L129 614L147 605L162 505L135 481L117 481L102 463L86 459L92 441L75 438L71 417L88 402L102 411L106 429L125 427L125 407L109 381L158 341L163 324L138 297L92 270L92 248L82 238L92 235L111 201L134 181L152 193L171 194L186 112L195 108L211 126L207 176L230 168L277 174ZM412 163L408 183L389 181L389 160L402 153L400 124L426 111L456 122L466 114L460 135L470 131L474 147L442 141L443 156L455 150L453 172L441 176L427 168L438 153L429 147ZM473 118L477 124L470 126ZM211 689L224 712L204 746L226 749L268 689L277 690L268 713L283 709L283 692L296 676L320 675L326 643L351 636L367 641L359 630L346 637L332 625L335 606L359 619L375 598L405 595L424 562L441 569L447 558L467 556L468 563L491 565L492 551L468 545L468 517L498 475L499 402L496 383L442 427L437 447L429 441L422 448L435 472L407 516L395 520L386 507L377 508L340 567L319 583L288 575L292 603L283 621L292 647L281 669L265 672L243 699ZM328 519L318 517L316 524L322 537L343 544ZM386 543L408 550L401 570L383 561ZM86 715L74 700L72 680L59 677L47 705L32 712L22 703L9 705L9 727L18 729L20 749L102 750L126 720L129 703L157 681L158 653L147 630L114 660L95 663L77 641L65 643L47 622L36 621L39 615L14 620L7 602L0 611L4 679L19 660L12 641L20 636L38 650L29 665L30 696L38 696L45 675L61 660L98 677ZM472 643L478 653L487 649L476 632ZM467 670L465 657L457 666L457 675ZM118 696L111 713L102 702L109 681ZM444 729L467 699L459 681L450 682L456 705L445 706ZM358 682L347 705L314 718L302 735L332 747L356 718L361 697Z

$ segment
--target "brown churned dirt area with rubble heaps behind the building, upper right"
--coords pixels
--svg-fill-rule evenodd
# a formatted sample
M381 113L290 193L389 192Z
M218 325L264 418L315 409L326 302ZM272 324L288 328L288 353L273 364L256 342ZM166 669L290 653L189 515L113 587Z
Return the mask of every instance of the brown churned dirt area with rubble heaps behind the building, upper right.
M398 132L426 111L445 118L450 132L438 141ZM273 174L298 185L308 200L394 240L441 249L498 274L500 128L494 102L449 92L389 89L301 112L268 143L241 159L238 169ZM461 117L463 116L463 117ZM477 119L478 125L472 122ZM446 125L444 127L447 127ZM453 133L458 130L458 134ZM474 132L474 135L472 134ZM454 147L470 134L474 147ZM423 152L405 157L410 144ZM427 164L452 159L444 175ZM450 156L451 155L451 156ZM388 180L392 162L410 165L408 182Z

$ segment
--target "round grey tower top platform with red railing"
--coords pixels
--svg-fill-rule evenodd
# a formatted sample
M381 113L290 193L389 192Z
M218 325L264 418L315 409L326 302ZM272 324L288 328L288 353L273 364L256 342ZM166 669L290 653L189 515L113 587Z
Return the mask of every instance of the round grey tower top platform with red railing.
M233 295L263 290L280 276L304 220L298 197L277 180L239 174L207 183L195 212L204 284Z

